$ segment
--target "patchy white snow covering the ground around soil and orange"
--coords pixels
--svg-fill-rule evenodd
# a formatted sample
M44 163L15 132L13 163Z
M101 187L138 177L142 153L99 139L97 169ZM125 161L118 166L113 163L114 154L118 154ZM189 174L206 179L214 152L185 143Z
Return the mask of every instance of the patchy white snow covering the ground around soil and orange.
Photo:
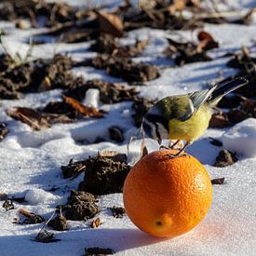
M74 5L100 5L102 1L67 1ZM136 1L135 1L136 2ZM231 1L230 1L231 2ZM104 4L116 4L122 1L108 0ZM249 8L255 1L232 1L232 7ZM5 42L8 51L19 51L24 56L28 45L25 44L30 33L19 31L8 22L0 27L8 34ZM205 88L220 76L235 74L236 70L225 66L228 52L238 51L242 45L255 51L256 25L207 25L205 28L221 43L220 48L210 51L213 61L186 64L174 67L161 52L167 47L168 32L140 29L128 33L122 39L123 44L134 42L136 38L149 39L143 55L134 61L155 63L160 69L160 77L140 87L140 95L151 99L161 99L172 94L187 93ZM195 39L194 33L182 32L182 36ZM89 52L90 43L62 44L49 42L45 46L36 46L34 58L50 57L56 52L67 53L74 60L83 60L95 56ZM86 79L100 78L110 82L121 82L103 71L91 67L75 68L74 74ZM125 216L115 219L108 208L123 206L122 195L102 195L99 205L99 217L102 224L92 230L88 222L69 221L70 230L54 232L61 241L41 244L32 241L42 224L19 225L12 223L20 208L34 211L50 217L54 208L64 204L71 189L76 189L83 180L80 175L74 180L64 180L61 165L67 165L71 158L86 159L99 151L115 150L127 152L130 136L138 130L131 118L131 102L114 105L101 104L99 91L90 89L85 102L107 112L102 119L85 119L74 124L58 124L42 131L33 131L25 124L7 116L6 110L12 107L44 107L49 101L61 100L61 90L27 94L17 101L1 101L0 121L7 123L9 133L0 142L0 193L11 196L25 196L24 203L15 203L15 209L6 211L0 208L0 254L1 255L82 255L85 247L115 249L117 255L256 255L256 121L247 119L226 130L210 128L205 135L188 148L208 169L210 178L225 178L222 185L213 186L213 202L207 217L191 232L174 239L160 239L142 233ZM97 137L108 138L108 128L119 126L125 131L125 141L115 144L113 141L94 143ZM240 155L236 164L226 168L215 168L215 158L221 148L212 145L209 137L223 142L223 148ZM128 162L134 164L140 156L141 141L134 141L129 148ZM155 141L146 140L149 151L157 150ZM52 188L58 188L49 192ZM2 202L1 202L2 203Z

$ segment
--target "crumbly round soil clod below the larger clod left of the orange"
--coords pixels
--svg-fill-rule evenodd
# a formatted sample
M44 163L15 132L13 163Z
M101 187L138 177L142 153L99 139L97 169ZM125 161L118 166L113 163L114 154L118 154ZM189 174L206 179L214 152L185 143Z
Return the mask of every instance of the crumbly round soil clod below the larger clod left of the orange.
M74 190L71 191L68 202L62 210L64 217L72 221L87 221L100 211L94 195Z

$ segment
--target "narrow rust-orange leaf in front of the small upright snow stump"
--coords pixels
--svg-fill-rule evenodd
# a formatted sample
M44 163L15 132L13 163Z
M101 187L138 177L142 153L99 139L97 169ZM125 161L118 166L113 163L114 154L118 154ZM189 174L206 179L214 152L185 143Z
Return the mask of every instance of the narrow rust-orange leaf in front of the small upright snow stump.
M65 103L69 104L71 107L73 107L76 111L81 113L82 115L88 116L88 117L103 117L102 113L97 110L93 106L85 106L81 104L79 101L74 100L74 98L63 96L63 100Z

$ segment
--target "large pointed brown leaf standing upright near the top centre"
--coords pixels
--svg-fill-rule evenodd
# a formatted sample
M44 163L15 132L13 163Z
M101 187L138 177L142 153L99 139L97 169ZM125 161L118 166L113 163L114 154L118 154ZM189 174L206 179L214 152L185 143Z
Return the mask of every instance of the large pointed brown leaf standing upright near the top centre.
M123 35L124 25L122 20L115 14L95 10L99 20L100 30L105 34L112 34L116 37Z

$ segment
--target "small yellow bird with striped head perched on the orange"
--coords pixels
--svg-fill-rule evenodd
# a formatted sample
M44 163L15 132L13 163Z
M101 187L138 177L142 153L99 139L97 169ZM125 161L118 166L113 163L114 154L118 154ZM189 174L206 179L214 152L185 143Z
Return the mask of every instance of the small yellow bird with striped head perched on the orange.
M180 141L186 141L179 152L172 156L185 155L182 152L209 128L214 107L224 95L247 85L247 77L238 76L207 89L168 96L157 101L142 118L143 134L158 141L159 145L162 140L174 140L174 143L168 145L168 149L174 148Z

